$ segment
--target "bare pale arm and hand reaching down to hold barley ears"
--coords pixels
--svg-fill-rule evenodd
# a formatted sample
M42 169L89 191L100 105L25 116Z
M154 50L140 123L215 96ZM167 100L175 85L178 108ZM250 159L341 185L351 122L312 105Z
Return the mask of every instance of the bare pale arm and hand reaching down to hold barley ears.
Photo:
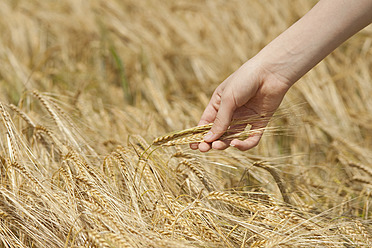
M255 147L262 134L243 141L218 138L233 119L262 116L265 117L262 121L247 124L252 125L252 129L265 127L298 79L371 22L372 0L320 0L216 88L199 122L199 125L213 123L213 126L204 142L190 147L201 152L229 146L242 151Z

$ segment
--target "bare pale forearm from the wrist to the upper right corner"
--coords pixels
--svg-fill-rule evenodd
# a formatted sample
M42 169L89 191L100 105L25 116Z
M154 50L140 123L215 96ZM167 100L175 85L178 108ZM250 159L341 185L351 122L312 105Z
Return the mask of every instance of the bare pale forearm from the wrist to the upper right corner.
M292 85L371 22L372 0L321 0L255 58Z

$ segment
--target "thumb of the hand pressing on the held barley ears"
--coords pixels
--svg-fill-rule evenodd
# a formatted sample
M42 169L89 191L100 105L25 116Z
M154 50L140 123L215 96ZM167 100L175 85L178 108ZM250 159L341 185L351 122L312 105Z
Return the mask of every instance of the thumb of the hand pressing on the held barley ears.
M236 106L232 97L226 97L226 94L225 96L221 97L220 107L218 109L216 118L213 121L213 126L204 137L205 142L211 143L226 132L230 126L235 109Z

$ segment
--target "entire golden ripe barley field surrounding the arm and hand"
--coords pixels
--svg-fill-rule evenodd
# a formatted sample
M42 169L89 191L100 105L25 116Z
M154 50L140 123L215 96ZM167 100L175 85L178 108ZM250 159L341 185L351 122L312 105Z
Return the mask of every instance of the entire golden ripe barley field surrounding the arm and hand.
M2 0L0 247L372 247L371 25L254 149L188 145L215 87L315 3Z

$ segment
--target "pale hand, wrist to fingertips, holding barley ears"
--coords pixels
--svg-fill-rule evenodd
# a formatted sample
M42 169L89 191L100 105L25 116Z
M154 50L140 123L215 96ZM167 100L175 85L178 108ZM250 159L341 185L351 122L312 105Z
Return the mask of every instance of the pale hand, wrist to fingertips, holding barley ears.
M193 143L191 149L207 152L211 148L223 150L231 145L248 150L258 144L262 132L244 141L218 140L232 120L247 121L232 126L232 130L242 130L248 124L252 125L251 130L265 127L291 85L285 78L259 67L253 60L246 62L216 88L199 122L199 125L213 122L213 127L204 138L205 142ZM254 121L249 122L249 119Z

